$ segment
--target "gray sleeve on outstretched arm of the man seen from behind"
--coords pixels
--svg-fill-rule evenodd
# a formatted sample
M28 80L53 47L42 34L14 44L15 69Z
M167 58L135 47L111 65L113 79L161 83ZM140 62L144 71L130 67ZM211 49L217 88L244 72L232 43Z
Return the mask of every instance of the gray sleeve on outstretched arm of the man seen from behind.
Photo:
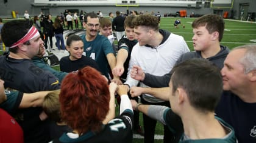
M166 125L164 116L168 110L170 110L170 108L166 106L150 105L148 108L148 116Z

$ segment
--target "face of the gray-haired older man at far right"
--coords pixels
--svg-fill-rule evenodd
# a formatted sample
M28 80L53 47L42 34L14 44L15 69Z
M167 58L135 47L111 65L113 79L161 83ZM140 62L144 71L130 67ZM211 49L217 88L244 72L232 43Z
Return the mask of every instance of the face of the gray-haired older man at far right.
M244 66L240 63L245 52L245 49L237 49L227 55L221 70L224 90L235 92L246 88L249 84L248 76L244 73Z

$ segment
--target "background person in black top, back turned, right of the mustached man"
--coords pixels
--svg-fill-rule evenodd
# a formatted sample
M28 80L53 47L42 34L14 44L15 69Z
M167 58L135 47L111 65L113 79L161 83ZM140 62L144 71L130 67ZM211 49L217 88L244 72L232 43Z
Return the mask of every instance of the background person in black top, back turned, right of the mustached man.
M119 41L124 35L124 20L125 18L120 15L119 11L116 11L116 17L113 19L112 28L116 32L116 38Z

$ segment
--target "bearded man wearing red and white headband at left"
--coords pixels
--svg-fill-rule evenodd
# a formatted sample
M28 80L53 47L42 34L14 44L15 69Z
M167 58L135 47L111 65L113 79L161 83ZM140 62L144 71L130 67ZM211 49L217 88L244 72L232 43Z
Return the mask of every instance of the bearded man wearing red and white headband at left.
M6 22L1 30L2 41L9 47L9 54L0 57L0 77L5 88L24 93L55 90L60 88L59 79L48 71L34 65L43 40L32 21L13 20ZM25 142L48 142L48 131L43 121L41 107L19 110L16 119L24 131Z

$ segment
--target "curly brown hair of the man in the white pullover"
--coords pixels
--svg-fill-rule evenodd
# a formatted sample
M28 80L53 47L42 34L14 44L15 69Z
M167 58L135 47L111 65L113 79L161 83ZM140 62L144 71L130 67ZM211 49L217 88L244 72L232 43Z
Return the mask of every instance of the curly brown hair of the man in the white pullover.
M159 29L157 16L152 16L149 14L136 16L135 19L132 21L132 24L135 25L135 28L137 28L138 26L146 26L154 30Z

